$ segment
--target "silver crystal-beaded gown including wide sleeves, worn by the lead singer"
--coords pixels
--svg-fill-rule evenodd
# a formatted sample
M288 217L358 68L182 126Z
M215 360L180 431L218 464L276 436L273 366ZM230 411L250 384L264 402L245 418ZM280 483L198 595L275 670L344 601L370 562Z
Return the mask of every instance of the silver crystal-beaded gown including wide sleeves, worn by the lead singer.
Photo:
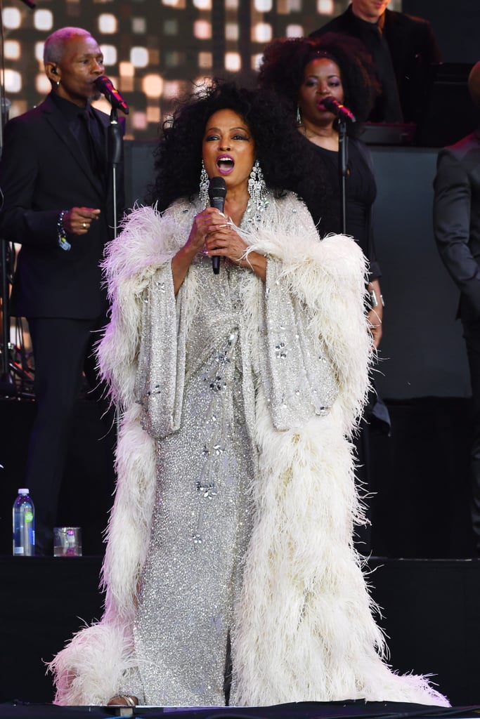
M270 193L263 198L261 208L261 214L245 213L241 231L250 230L252 224L258 227L271 222L269 214L274 216L276 210ZM191 209L191 216L195 211ZM291 211L292 220L294 216ZM313 396L314 389L318 388L324 404L335 395L333 389L327 389L331 382L335 385L332 371L325 374L325 363L311 352L302 357L304 329L295 331L295 324L304 324L307 318L304 311L292 306L279 280L279 263L271 259L268 263L269 291L261 293L268 295L268 302L262 322L268 324L271 335L257 325L257 341L261 342L258 351L245 346L241 339L244 294L251 292L251 275L236 265L227 265L225 271L213 277L209 258L202 256L192 265L189 282L196 289L190 288L189 293L196 295L201 288L201 302L196 305L196 321L188 331L180 326L176 339L178 347L184 343L186 347L188 384L183 393L183 420L177 432L158 440L158 503L135 621L135 646L142 657L140 675L148 687L148 703L155 704L160 699L164 703L188 703L194 696L189 696L188 687L196 687L197 697L201 696L205 705L221 702L227 634L235 636L232 608L242 585L252 521L249 486L257 462L248 439L254 433L253 411L244 406L243 397L253 407L254 387L260 382L271 398L272 408L281 405L282 416L289 413L292 419L304 404L302 397ZM155 286L162 282L155 278ZM176 383L166 374L163 352L167 347L165 337L171 336L166 327L176 326L178 306L184 303L183 290L176 303L170 301L171 310L164 315L163 326L158 323L165 301L165 297L154 293L143 323L150 337L148 360L142 364L149 376L145 384L149 415L145 426L150 428L156 425L155 398L165 398L166 385ZM269 350L264 343L273 348L276 362L280 357L275 347L283 344L281 367L271 370L270 362L265 361ZM249 375L252 376L245 383ZM306 387L308 377L314 385ZM160 390L160 394L149 395L151 388L155 393ZM158 413L165 411L160 402ZM309 412L314 416L313 404ZM181 493L179 480L184 487ZM182 517L189 517L189 522L182 522ZM180 538L178 527L182 525ZM181 605L176 600L179 592L184 597ZM168 651L172 641L177 647L175 661ZM204 657L200 663L199 656Z

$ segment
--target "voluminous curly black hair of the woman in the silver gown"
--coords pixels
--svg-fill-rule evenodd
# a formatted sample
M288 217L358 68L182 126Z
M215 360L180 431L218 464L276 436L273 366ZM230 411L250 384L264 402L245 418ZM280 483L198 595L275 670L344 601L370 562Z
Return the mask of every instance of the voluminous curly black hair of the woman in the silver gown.
M163 123L155 152L155 180L147 198L157 203L159 211L178 198L198 193L204 130L209 117L221 109L235 111L248 124L267 186L277 194L296 187L301 139L284 101L273 93L214 79L197 86Z

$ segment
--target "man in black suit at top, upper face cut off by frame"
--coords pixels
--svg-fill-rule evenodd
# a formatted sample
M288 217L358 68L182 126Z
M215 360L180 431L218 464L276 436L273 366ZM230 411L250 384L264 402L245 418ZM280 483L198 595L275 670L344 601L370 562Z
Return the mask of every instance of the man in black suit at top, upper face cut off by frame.
M381 94L370 122L421 122L433 63L440 62L430 24L388 10L390 0L352 0L345 12L311 33L357 37L373 59Z

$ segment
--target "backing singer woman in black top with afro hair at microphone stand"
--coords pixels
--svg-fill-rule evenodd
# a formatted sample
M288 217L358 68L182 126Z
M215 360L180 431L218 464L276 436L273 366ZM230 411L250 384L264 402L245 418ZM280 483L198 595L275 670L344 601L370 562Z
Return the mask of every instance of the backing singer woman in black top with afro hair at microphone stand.
M368 116L379 86L363 45L352 37L328 33L323 37L273 40L266 47L259 82L286 99L304 142L298 161L303 165L294 188L304 199L320 237L342 232L340 216L338 119L322 100L332 97L352 111L347 122L348 169L345 181L346 232L356 239L369 262L368 291L373 344L381 340L383 306L371 225L376 196L371 155L356 133ZM330 196L325 200L325 182Z

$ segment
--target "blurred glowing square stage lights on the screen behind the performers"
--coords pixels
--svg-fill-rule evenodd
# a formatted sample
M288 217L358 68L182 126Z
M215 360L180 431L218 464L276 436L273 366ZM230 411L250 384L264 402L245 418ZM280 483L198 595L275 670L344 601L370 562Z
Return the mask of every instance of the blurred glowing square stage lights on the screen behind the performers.
M263 46L273 37L301 37L321 21L314 14L343 12L344 0L37 0L34 12L18 0L4 0L6 93L10 116L38 104L50 91L43 71L43 44L54 29L91 29L104 53L106 73L127 98L127 133L156 136L156 124L191 90L196 76L210 75L218 63L213 42L222 42L220 65L228 73L256 70ZM392 9L399 0L391 0ZM47 8L45 8L47 6ZM221 6L224 27L214 11ZM249 12L244 10L249 9ZM308 22L307 22L308 18ZM250 27L245 22L250 19ZM223 35L222 35L223 34ZM250 47L240 40L250 37ZM218 68L217 68L218 69ZM107 101L104 101L105 103ZM108 104L106 111L109 111ZM134 122L135 118L135 122Z

